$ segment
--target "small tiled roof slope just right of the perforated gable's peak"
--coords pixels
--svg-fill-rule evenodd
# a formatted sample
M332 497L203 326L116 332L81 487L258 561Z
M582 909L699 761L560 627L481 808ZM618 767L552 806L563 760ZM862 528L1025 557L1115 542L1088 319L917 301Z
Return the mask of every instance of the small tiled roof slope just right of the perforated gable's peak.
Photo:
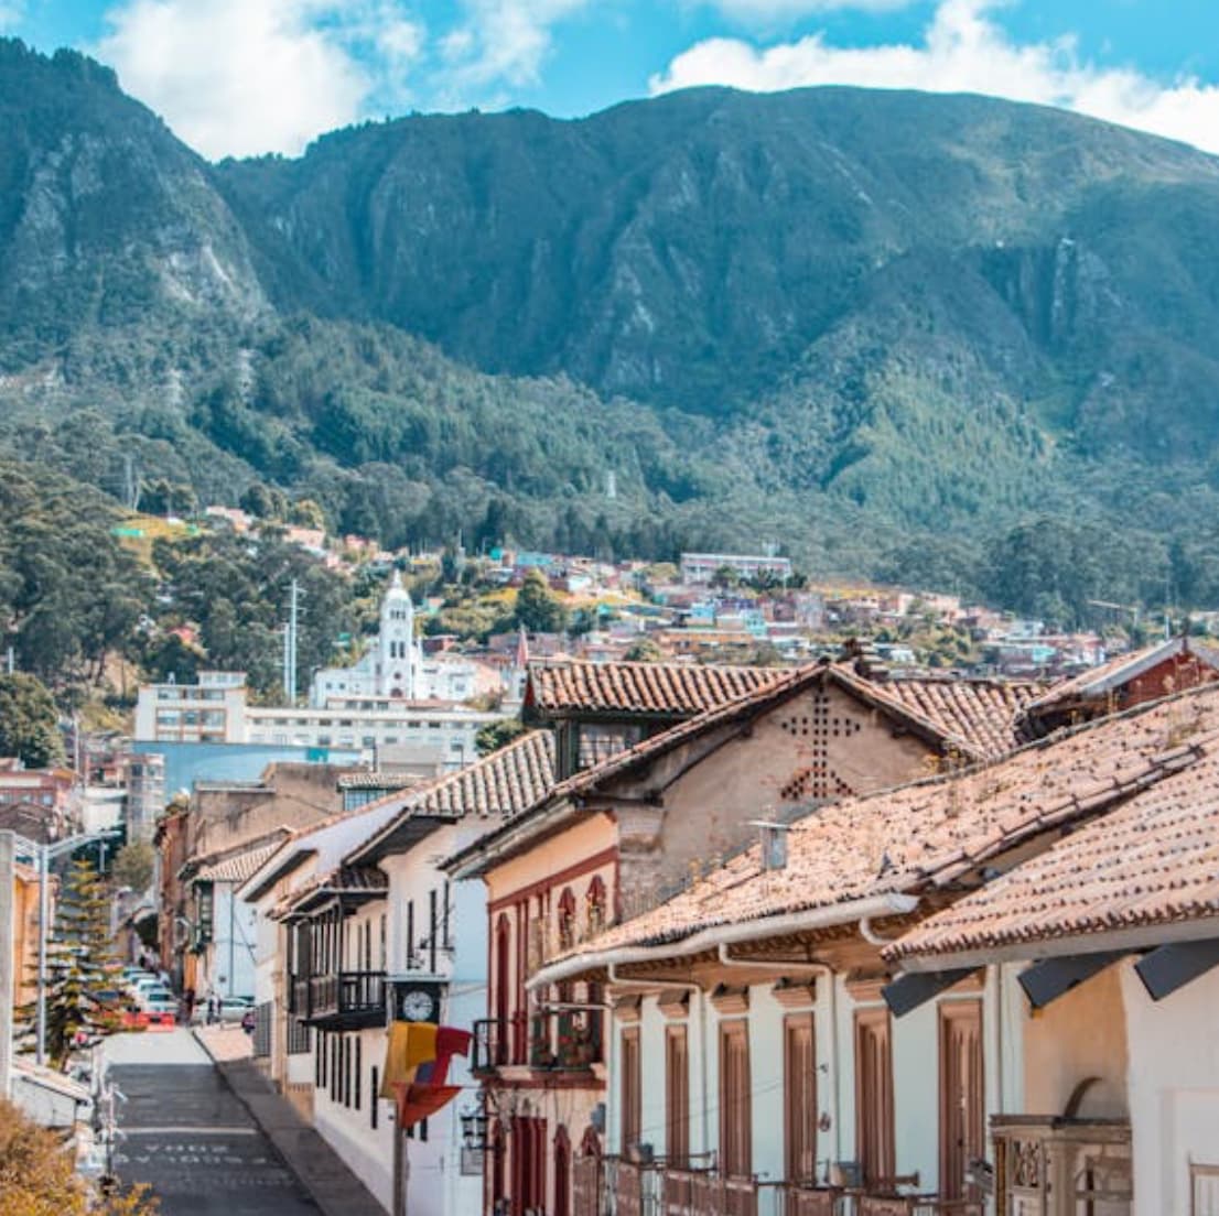
M1024 740L1017 720L1046 691L1043 684L1014 680L889 680L880 685L895 701L935 723L946 735L964 738L974 752L998 759Z

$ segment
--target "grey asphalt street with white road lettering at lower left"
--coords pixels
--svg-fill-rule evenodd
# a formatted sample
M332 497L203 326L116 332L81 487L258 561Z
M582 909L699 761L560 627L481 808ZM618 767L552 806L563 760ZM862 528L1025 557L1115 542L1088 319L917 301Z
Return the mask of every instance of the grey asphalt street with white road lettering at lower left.
M189 1031L106 1044L123 1139L124 1184L149 1183L161 1216L317 1216Z

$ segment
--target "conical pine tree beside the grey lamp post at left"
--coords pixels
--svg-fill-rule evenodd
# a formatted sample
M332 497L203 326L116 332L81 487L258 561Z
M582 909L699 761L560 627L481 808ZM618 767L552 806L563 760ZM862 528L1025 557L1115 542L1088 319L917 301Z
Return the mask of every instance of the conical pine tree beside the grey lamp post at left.
M123 1028L119 972L110 935L110 894L93 865L76 860L65 875L48 944L46 1055L61 1071L84 1042ZM23 1010L27 1036L37 1010Z

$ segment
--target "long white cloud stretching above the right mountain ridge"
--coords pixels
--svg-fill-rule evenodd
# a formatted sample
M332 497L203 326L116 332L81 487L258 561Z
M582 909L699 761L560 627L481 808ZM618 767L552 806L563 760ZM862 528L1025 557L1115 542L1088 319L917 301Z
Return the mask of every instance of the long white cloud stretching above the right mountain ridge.
M1219 152L1219 87L1160 84L1131 68L1084 61L1070 38L1018 44L987 11L995 0L942 0L919 45L833 46L823 34L759 49L712 38L678 55L652 93L727 84L759 93L856 84L933 93L983 93L1076 110Z

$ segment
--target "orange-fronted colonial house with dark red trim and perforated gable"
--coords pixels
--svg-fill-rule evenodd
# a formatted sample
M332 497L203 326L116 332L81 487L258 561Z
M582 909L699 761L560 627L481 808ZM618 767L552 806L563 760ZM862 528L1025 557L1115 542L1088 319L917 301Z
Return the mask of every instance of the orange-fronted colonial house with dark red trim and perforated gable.
M736 696L720 696L730 684ZM603 1145L619 1048L605 986L616 980L595 971L538 986L549 956L713 869L757 838L759 821L778 846L816 807L1002 754L1028 699L991 684L897 688L829 663L531 671L527 713L553 723L563 780L449 861L455 880L482 877L488 893L490 1000L474 1042L491 1116L486 1211L569 1216L578 1161ZM663 1060L649 1055L650 1076L663 1076Z

